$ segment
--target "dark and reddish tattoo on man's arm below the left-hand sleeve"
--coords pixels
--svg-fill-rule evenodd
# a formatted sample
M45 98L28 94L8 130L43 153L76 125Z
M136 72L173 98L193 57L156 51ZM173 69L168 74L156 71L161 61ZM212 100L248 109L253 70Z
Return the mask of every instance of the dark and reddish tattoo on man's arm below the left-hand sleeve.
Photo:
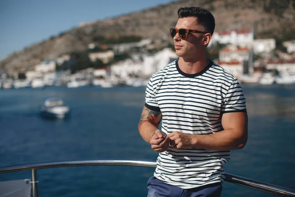
M159 127L159 124L162 119L162 113L157 111L152 111L148 109L147 107L144 107L141 119L138 124L138 130L140 130L141 125L144 122L150 122L152 125L154 125L156 128Z

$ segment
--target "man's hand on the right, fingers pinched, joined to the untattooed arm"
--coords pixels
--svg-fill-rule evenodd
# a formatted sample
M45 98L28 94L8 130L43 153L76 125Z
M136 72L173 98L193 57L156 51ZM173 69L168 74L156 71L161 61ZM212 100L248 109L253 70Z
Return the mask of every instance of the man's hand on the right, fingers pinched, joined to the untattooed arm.
M194 139L192 134L187 134L179 131L174 131L167 135L170 138L170 146L173 148L192 148Z

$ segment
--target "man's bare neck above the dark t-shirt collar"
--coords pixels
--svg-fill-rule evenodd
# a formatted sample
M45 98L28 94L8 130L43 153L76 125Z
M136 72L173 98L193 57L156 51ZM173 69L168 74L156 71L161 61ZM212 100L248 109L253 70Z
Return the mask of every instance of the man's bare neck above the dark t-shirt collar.
M179 57L178 60L180 70L187 74L196 74L201 72L208 64L209 60L206 57L197 60L187 60Z

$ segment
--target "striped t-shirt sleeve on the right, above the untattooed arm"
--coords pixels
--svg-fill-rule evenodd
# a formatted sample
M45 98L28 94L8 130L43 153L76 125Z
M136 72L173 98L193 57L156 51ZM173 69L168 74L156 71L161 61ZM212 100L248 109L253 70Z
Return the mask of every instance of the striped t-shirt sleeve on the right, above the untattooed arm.
M221 113L229 112L247 112L246 99L237 80L231 84L221 106Z

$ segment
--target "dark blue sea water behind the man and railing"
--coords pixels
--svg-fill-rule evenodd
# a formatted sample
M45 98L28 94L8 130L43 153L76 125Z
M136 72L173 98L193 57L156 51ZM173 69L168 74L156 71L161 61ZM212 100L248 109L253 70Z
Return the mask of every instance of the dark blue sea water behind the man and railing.
M249 115L245 148L225 172L295 189L295 85L242 85ZM60 97L66 120L47 120L39 105ZM137 131L145 87L0 90L0 166L75 160L142 160L157 153ZM145 197L154 168L83 166L38 169L40 197ZM0 174L26 179L30 171ZM222 197L273 197L225 182Z

